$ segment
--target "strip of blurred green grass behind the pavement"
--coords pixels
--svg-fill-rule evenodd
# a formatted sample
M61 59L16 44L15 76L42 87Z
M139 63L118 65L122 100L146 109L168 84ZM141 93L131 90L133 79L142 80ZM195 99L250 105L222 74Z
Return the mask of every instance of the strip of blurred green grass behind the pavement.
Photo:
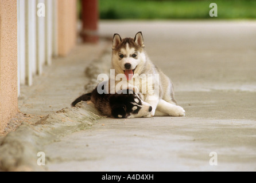
M210 17L210 3L218 17ZM99 0L100 19L255 19L256 0Z

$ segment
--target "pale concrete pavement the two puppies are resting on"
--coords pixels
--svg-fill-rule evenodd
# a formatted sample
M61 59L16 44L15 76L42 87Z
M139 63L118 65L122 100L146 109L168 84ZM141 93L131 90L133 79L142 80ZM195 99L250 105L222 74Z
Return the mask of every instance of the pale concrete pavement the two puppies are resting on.
M53 118L51 115L66 114L63 110L76 114L71 102L90 92L88 86L96 79L87 77L86 68L98 74L111 67L110 41L78 44L68 57L56 58L51 67L46 67L44 74L34 79L33 86L22 87L20 111L31 119L0 138L0 152L4 146L9 147L10 138L21 138L18 132L22 126L42 135L23 134L29 139L26 141L36 144L30 145L36 146L33 151L31 147L22 148L28 149L31 158L26 157L21 163L24 152L18 158L2 153L0 169L255 171L256 22L99 23L99 34L104 38L112 38L114 33L134 37L138 31L142 31L150 59L172 79L176 101L185 109L185 117L114 119L95 112L94 118L90 117L90 122L79 130L56 131L58 137L50 131L41 133L50 129L43 125L44 119ZM77 113L82 114L87 108L82 109ZM42 126L37 128L38 124ZM75 120L69 126L73 124ZM49 134L51 138L46 141ZM38 160L43 158L38 152L44 153L44 161ZM6 159L11 161L3 162Z

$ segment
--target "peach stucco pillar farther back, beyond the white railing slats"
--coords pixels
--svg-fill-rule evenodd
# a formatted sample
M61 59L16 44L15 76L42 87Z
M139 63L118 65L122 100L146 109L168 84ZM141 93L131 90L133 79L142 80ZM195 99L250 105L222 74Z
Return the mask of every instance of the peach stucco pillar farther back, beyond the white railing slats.
M58 48L59 55L69 53L76 42L76 0L58 0Z

